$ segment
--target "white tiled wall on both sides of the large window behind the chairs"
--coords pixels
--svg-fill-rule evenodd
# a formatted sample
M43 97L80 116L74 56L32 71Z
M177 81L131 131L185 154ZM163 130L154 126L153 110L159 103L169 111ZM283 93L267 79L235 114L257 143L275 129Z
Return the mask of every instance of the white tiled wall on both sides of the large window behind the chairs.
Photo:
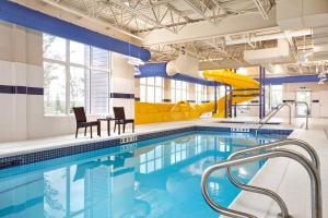
M133 68L113 55L112 93L134 94ZM0 23L0 85L44 87L42 34ZM134 99L113 99L134 117ZM0 142L71 134L73 116L44 116L44 96L0 93ZM90 117L89 119L96 119ZM106 128L105 124L103 124Z

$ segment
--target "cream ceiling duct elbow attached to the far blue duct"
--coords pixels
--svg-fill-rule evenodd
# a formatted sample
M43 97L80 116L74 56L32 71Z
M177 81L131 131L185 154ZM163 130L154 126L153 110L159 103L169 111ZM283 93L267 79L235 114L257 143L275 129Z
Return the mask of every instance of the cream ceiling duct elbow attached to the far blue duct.
M179 50L179 56L176 60L169 61L166 64L166 73L173 76L177 73L194 77L199 77L198 58L189 55L185 47Z

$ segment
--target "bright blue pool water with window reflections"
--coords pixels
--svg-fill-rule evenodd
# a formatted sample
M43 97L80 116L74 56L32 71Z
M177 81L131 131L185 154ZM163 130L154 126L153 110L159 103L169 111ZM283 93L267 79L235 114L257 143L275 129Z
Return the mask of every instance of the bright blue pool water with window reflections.
M202 171L241 148L282 138L190 132L0 171L0 217L218 218L203 201ZM263 161L235 168L248 182ZM224 171L209 181L229 206L239 190Z

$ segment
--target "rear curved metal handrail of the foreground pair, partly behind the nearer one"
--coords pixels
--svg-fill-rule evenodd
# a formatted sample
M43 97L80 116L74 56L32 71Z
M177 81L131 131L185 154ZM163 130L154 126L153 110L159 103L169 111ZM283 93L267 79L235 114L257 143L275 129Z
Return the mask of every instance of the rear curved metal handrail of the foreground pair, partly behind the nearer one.
M318 175L320 177L320 161L319 161L318 154L316 153L316 150L308 143L296 140L296 138L286 138L286 140L277 141L277 142L273 142L273 143L267 143L267 144L259 145L259 146L256 146L256 147L241 149L241 150L237 150L237 152L233 153L227 158L227 160L234 159L237 156L241 156L241 155L246 154L246 153L254 153L254 152L259 152L259 150L263 150L263 149L274 149L274 148L278 148L278 147L285 146L285 145L297 145L297 146L302 147L303 149L305 149L307 152L307 154L309 155L314 167L317 169ZM230 181L234 185L236 185L237 187L239 187L244 191L254 192L254 193L258 193L258 194L263 194L263 195L267 195L267 196L271 197L279 205L279 207L281 209L282 217L289 217L288 207L285 206L285 203L283 202L283 199L278 194L276 194L271 190L267 190L267 189L263 189L263 187L258 187L258 186L253 186L253 185L241 183L238 180L236 180L233 177L233 174L231 173L231 168L230 167L227 168L226 173L227 173L227 178L230 179Z

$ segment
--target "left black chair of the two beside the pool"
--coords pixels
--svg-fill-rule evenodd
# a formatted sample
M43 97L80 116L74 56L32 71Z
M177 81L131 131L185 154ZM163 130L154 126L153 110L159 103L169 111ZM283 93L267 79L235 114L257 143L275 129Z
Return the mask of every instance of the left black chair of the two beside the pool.
M99 121L86 121L86 116L83 107L73 108L75 120L77 120L77 133L75 138L78 137L79 129L84 128L84 136L86 135L86 129L90 126L90 134L92 138L92 126L97 126L97 135L101 136L101 122Z

